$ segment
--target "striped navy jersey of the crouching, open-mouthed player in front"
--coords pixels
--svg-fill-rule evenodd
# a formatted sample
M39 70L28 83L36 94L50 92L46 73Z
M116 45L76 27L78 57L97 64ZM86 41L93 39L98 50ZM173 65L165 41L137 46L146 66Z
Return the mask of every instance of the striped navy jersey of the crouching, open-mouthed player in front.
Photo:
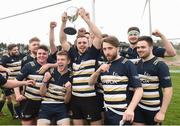
M46 95L43 97L42 103L64 103L66 93L64 84L71 82L70 71L61 75L57 68L51 68L51 79L48 83Z

